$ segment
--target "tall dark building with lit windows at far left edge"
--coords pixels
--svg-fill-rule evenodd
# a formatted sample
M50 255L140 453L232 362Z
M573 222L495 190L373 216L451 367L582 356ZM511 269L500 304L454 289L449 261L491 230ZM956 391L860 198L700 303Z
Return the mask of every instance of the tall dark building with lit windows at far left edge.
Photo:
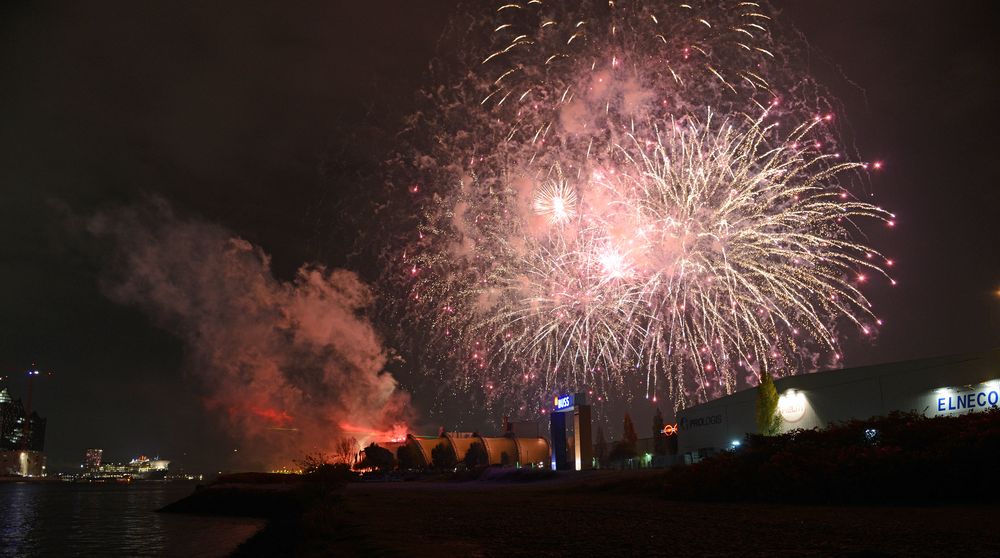
M45 474L45 419L32 411L25 428L24 404L0 389L0 476Z

